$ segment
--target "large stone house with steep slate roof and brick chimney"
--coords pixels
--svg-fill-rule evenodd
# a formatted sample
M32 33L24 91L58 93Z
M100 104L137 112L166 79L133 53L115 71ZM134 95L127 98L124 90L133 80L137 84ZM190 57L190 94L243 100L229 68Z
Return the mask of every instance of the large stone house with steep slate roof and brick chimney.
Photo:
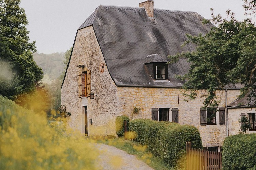
M219 150L228 133L225 106L240 87L217 91L219 108L204 109L202 98L184 101L184 82L175 77L190 64L184 58L166 64L168 55L195 49L181 45L186 33L206 34L213 27L203 19L196 12L154 9L153 1L97 7L77 30L62 83L68 124L86 135L113 135L116 117L132 118L137 107L141 111L133 118L194 125L204 147Z

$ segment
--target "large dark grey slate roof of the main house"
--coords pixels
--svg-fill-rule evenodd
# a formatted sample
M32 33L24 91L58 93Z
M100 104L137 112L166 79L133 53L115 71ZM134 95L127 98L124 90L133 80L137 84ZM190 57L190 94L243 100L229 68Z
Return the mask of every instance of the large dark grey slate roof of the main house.
M154 9L149 18L144 8L100 5L79 27L93 26L109 73L117 86L178 87L190 68L185 58L168 65L169 81L154 81L144 67L148 55L168 55L192 51L195 45L181 45L186 33L206 34L212 24L202 24L196 12ZM79 30L78 29L78 30Z

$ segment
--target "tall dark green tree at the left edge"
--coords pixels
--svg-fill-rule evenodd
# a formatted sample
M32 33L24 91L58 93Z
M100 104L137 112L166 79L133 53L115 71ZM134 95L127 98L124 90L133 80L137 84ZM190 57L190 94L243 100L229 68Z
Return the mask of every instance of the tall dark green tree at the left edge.
M33 60L35 41L29 43L21 0L0 0L0 61L8 66L8 74L0 76L0 95L15 99L18 94L35 90L43 76Z

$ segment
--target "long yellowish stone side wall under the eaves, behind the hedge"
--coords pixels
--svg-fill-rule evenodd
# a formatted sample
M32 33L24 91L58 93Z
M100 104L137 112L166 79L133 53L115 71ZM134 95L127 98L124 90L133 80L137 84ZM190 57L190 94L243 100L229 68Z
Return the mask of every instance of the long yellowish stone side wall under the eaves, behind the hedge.
M219 125L219 114L216 115L216 125L200 125L200 107L203 107L203 98L199 95L195 100L186 102L182 89L175 88L142 88L142 87L118 87L118 110L120 114L131 114L135 106L142 108L133 119L151 119L151 108L179 108L179 123L195 126L201 134L203 146L222 146L226 137L226 126ZM225 91L217 91L218 99L221 101L219 107L225 107ZM239 95L238 90L227 91L227 103L231 103ZM178 104L179 98L179 104Z

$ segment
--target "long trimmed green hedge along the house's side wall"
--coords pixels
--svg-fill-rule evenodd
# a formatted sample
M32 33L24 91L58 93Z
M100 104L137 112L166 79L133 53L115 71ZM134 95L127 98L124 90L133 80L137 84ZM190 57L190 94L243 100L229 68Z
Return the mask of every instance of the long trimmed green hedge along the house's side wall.
M135 141L147 145L170 166L176 166L177 160L186 153L186 142L191 141L193 148L202 148L199 131L190 125L136 119L129 122L129 130L137 133Z

